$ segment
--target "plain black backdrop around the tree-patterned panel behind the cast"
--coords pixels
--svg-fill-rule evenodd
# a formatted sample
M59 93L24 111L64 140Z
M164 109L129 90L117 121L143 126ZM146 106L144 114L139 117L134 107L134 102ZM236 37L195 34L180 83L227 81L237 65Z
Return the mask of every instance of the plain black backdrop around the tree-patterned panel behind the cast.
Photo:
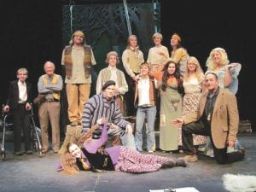
M9 81L16 79L20 67L29 71L28 80L34 85L44 73L45 61L53 61L56 73L61 73L62 5L61 0L6 0L0 2L1 67L0 101L7 97ZM72 1L73 3L113 3L113 1ZM122 3L121 0L114 1ZM137 1L127 1L136 3ZM139 1L152 2L152 1ZM205 70L211 49L223 47L231 62L242 65L237 94L241 119L249 119L255 131L255 43L256 15L253 1L161 0L161 33L163 44L170 49L170 38L177 32L189 55L195 55ZM146 55L146 53L145 53Z

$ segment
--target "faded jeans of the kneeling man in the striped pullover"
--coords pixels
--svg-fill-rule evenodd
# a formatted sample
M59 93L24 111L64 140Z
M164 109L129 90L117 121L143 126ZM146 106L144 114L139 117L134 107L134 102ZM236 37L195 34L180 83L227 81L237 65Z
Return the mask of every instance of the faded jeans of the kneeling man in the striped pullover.
M121 142L124 147L130 148L131 150L136 150L135 139L133 135L128 135L125 130L118 127L117 129L109 129L108 136L120 135Z

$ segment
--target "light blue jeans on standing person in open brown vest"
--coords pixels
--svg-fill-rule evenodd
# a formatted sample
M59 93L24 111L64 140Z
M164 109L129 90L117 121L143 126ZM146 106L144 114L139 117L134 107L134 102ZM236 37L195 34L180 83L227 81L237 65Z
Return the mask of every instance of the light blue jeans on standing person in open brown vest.
M145 119L147 119L147 149L155 150L155 137L154 137L154 120L156 115L156 107L148 108L137 108L137 117L136 117L136 132L135 139L137 150L143 150L143 124Z

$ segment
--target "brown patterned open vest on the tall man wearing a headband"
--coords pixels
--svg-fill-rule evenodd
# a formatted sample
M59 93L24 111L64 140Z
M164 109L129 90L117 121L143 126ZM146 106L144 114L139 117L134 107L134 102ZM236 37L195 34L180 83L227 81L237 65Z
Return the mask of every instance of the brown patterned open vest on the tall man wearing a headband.
M72 76L72 46L68 45L64 49L64 64L66 69L66 75L67 79L70 79ZM84 74L85 77L89 77L91 73L91 52L90 52L90 46L85 45L84 46Z

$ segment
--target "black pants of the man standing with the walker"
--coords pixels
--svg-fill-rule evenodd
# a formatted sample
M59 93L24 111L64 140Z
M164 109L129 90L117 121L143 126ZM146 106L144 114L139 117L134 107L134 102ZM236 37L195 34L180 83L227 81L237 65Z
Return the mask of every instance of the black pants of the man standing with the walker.
M18 104L12 111L14 119L14 149L15 152L21 149L21 131L23 131L25 150L31 150L31 127L29 113L25 104Z

